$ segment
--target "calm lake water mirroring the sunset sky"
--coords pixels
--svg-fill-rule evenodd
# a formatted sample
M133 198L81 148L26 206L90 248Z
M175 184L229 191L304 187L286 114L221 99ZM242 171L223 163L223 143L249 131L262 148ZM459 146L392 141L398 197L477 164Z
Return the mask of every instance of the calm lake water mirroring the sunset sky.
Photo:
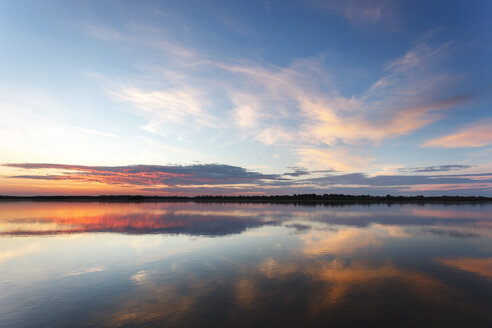
M0 203L0 327L492 327L492 205Z

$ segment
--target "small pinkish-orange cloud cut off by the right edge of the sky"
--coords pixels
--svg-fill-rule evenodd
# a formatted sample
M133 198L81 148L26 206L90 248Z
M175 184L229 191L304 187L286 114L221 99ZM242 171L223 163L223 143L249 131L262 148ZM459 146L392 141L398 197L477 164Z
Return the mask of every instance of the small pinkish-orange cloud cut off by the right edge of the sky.
M470 124L452 134L427 141L424 147L483 147L492 143L492 120Z

